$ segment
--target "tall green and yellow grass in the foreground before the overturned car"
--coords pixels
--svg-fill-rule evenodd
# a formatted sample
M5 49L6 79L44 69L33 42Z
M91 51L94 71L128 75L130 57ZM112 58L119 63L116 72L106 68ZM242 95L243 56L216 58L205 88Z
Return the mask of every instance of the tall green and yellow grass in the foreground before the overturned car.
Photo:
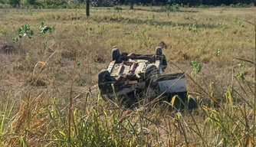
M245 81L238 79L238 82L248 96L253 96L254 93L247 91ZM199 109L177 113L166 104L137 109L107 106L110 104L100 96L90 97L89 93L79 104L74 103L71 116L65 110L70 107L59 107L56 98L43 103L44 93L21 100L19 111L13 112L16 104L8 98L1 105L0 143L13 146L255 145L253 97L238 104L235 96L244 98L243 94L239 96L231 91L223 93L225 98L218 106L199 100Z

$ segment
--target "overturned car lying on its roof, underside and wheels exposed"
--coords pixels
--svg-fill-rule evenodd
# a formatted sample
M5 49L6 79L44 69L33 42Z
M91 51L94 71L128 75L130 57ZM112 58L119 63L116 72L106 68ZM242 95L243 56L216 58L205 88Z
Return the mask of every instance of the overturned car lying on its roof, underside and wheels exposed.
M166 67L161 47L156 47L154 54L120 54L119 49L114 48L112 62L98 75L100 95L105 100L118 98L129 103L159 96L170 102L176 95L185 101L185 74L164 74Z

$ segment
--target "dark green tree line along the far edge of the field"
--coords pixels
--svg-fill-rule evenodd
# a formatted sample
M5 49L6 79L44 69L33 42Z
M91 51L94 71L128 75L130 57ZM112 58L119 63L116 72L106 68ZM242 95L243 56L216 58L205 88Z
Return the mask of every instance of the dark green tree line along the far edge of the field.
M114 5L187 5L189 7L199 5L252 5L256 0L0 0L0 4L10 5L13 8L21 6L34 6L35 8L79 8L86 3L94 7ZM0 5L1 6L1 5Z

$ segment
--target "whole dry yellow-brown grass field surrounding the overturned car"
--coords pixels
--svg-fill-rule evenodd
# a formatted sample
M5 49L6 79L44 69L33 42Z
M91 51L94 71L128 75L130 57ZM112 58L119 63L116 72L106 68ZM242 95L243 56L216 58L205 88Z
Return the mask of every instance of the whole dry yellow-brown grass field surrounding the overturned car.
M255 60L254 25L246 22L254 22L254 11L92 8L87 18L81 9L0 9L0 47L11 48L0 52L0 145L256 145L254 64L235 60ZM55 30L41 34L41 21ZM25 23L34 35L15 43ZM187 73L199 109L125 109L98 97L97 73L107 68L113 47L153 54L161 41L166 73ZM199 73L192 60L202 65Z

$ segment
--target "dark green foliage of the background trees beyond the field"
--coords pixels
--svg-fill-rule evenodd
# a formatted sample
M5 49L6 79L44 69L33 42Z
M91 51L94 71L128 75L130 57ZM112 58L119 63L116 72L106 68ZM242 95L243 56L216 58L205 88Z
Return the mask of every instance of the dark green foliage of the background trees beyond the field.
M9 5L13 8L20 7L21 0L1 0L0 3L8 2ZM34 6L34 8L81 8L80 5L85 3L85 0L25 0L28 5ZM114 5L165 5L169 11L179 11L179 8L188 8L190 7L199 7L199 8L210 8L212 6L222 6L222 7L231 7L231 8L240 8L240 7L253 7L253 3L256 0L228 0L225 2L214 1L214 0L91 0L90 5L94 7L113 7ZM28 6L29 7L29 6Z

